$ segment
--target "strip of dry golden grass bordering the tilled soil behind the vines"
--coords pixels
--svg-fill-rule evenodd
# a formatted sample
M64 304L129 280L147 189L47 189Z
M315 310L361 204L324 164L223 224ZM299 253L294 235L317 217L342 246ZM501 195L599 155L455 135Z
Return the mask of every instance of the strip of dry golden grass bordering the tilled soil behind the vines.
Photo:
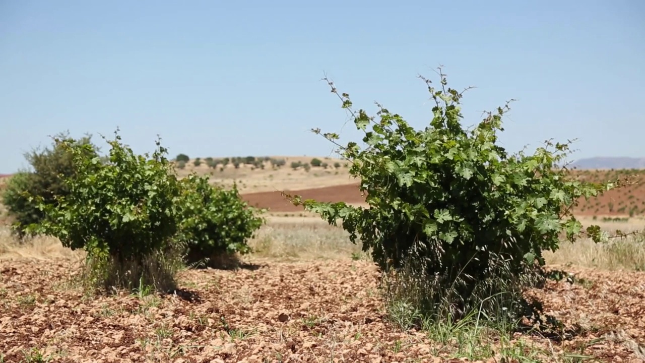
M333 227L315 216L269 216L268 223L249 244L255 252L252 258L274 260L344 260L361 255L361 245L354 245L341 227ZM620 229L624 232L642 231L643 220L630 222L594 222L608 232ZM64 248L55 238L37 237L18 244L10 235L8 227L0 229L0 259L20 258L83 258L83 252ZM645 236L616 238L610 242L595 244L590 239L581 239L575 244L562 242L555 253L545 252L548 265L574 265L600 270L645 270Z

